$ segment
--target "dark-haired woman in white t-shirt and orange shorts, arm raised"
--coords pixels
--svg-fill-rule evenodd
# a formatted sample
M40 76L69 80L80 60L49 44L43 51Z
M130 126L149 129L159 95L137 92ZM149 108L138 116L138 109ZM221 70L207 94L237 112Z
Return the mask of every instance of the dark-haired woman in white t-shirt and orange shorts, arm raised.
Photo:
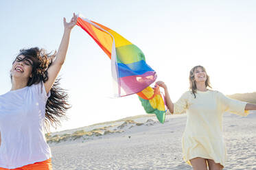
M0 95L0 170L52 169L45 127L58 125L70 108L56 77L76 21L75 14L69 23L64 18L65 31L57 53L51 55L38 47L21 49L12 63L12 88Z

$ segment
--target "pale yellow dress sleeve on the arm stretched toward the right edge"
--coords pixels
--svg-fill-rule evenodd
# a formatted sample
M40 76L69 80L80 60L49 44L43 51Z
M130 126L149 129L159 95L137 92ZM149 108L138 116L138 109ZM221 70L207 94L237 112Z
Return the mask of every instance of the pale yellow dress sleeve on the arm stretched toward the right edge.
M246 102L239 101L235 99L231 99L226 97L222 93L218 92L220 106L222 107L222 111L224 112L232 112L234 114L238 114L240 116L246 117L249 112L248 110L244 110L246 106Z

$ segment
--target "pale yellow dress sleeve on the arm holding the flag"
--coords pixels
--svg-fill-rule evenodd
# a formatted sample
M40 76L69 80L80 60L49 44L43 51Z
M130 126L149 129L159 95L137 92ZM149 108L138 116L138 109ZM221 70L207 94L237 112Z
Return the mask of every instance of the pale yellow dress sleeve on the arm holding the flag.
M188 95L187 92L183 93L180 99L174 104L174 114L183 114L187 110Z

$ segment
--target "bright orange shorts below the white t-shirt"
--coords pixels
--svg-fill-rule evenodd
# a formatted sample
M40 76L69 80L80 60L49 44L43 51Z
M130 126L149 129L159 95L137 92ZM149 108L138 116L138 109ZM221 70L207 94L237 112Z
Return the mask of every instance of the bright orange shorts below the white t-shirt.
M34 164L25 165L15 169L6 169L0 167L0 170L52 170L51 158L42 162L35 162Z

